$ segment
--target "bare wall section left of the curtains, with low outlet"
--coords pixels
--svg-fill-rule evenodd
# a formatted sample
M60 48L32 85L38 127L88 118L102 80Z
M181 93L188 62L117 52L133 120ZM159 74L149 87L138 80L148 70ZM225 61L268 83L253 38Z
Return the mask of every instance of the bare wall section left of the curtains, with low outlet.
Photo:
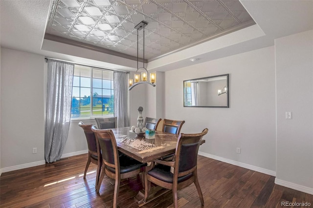
M45 160L44 62L1 48L1 168Z

